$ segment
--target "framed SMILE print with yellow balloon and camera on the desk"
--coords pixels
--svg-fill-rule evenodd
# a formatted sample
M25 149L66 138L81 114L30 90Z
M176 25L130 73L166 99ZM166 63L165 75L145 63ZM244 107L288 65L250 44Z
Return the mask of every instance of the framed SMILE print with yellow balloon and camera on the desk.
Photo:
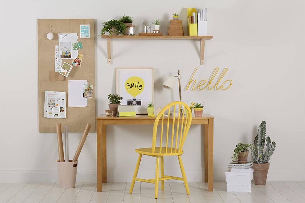
M154 103L154 69L115 68L115 80L121 105L134 105L136 114L147 114L147 104Z

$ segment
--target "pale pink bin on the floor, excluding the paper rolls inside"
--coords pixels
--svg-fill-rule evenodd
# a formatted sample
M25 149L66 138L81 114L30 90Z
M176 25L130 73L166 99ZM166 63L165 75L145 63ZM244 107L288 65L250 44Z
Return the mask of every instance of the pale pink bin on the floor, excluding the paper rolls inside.
M73 188L76 182L77 161L69 160L69 162L56 161L59 179L59 187Z

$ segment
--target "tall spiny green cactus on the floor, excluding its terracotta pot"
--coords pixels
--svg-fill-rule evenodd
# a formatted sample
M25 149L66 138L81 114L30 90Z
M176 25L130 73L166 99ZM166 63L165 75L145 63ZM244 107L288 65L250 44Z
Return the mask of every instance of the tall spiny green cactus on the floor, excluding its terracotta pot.
M265 148L265 140L266 149ZM256 164L265 164L271 158L275 150L275 141L271 142L270 137L266 138L266 122L262 121L258 127L257 135L254 139L254 143L251 149L253 162Z

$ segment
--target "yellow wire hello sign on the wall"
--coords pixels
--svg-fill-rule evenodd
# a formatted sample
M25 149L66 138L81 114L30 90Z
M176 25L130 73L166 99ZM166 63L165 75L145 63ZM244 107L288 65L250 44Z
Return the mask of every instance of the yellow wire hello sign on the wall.
M223 79L223 77L224 77L224 76L227 74L227 72L228 72L228 68L224 68L223 71L221 72L221 74L220 74L218 80L216 81L216 83L215 83L212 87L210 87L210 85L212 84L212 81L214 80L214 78L215 78L215 76L217 75L218 70L219 70L219 68L216 67L216 68L214 69L214 71L213 71L213 73L212 73L212 75L211 75L211 77L210 77L208 83L207 83L206 80L202 80L202 81L199 81L198 85L195 87L197 81L196 81L195 79L193 79L193 76L195 75L197 69L198 69L198 67L195 69L193 75L191 76L190 81L188 82L188 84L187 84L186 87L185 87L185 90L189 90L189 87L190 87L190 85L191 85L193 82L194 82L194 84L193 84L193 86L191 87L191 90L199 90L199 91L204 90L204 89L213 90L214 88L215 88L215 90L220 90L220 89L221 89L221 90L228 90L228 89L232 86L232 84L233 84L233 81L232 81L232 80L226 80L226 81L223 82L222 85L220 85L220 86L218 87L219 82ZM228 83L228 82L230 82L230 84L228 84L228 86L227 86L226 88L224 88L224 86L226 86L226 83ZM206 84L206 83L207 83L207 84ZM205 84L206 84L206 85L205 85ZM204 85L205 85L205 86L204 86Z

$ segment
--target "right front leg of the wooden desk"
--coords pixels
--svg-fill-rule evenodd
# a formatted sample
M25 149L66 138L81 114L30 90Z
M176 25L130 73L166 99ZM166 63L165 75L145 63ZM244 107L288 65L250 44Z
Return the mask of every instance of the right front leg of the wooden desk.
M214 120L209 119L208 129L208 191L213 191L213 133Z

